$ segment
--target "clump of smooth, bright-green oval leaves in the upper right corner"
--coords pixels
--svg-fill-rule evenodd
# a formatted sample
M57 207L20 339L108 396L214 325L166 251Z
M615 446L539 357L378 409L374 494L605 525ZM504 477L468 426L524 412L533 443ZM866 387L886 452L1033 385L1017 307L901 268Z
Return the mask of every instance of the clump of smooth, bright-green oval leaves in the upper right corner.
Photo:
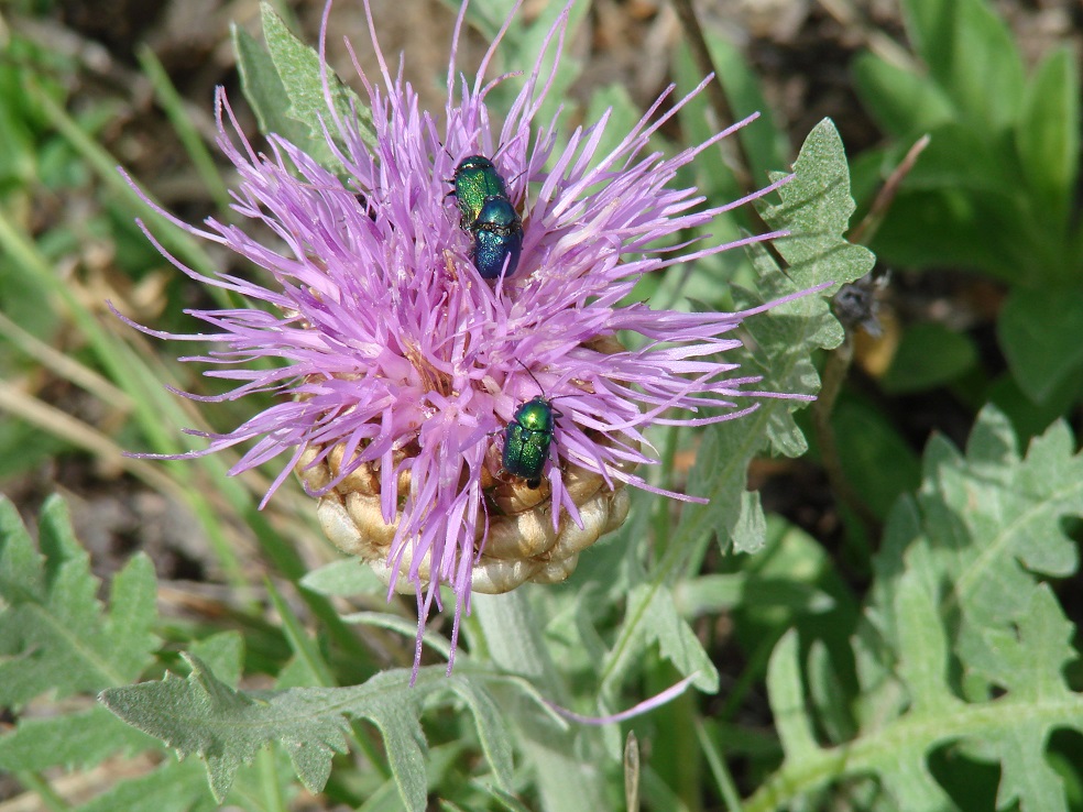
M1050 50L1027 77L986 0L904 9L916 59L863 54L855 87L894 140L887 165L919 135L931 142L872 248L895 265L960 265L1008 285L998 340L1022 391L1042 404L1083 369L1072 317L1083 295L1077 55Z

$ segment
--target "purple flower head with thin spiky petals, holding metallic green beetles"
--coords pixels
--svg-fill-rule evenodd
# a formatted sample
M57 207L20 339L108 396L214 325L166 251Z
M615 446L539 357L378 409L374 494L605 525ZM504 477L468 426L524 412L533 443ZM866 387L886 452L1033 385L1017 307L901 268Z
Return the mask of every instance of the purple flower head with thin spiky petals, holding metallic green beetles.
M321 42L328 12L329 6ZM419 657L420 633L433 602L440 605L441 583L456 594L452 645L458 621L469 612L471 589L507 585L503 575L490 579L499 581L495 585L481 584L478 573L496 544L494 528L506 518L494 497L507 479L500 450L522 404L538 395L559 398L543 490L534 500L544 507L542 524L551 524L551 533L539 530L551 544L562 528L586 524L579 474L593 475L595 490L609 495L633 485L692 498L656 489L634 472L637 464L655 462L642 451L649 447L642 434L646 427L729 420L756 408L754 402L739 406L739 400L789 397L745 389L758 378L734 374L736 364L714 358L740 345L728 333L744 317L766 308L729 314L620 305L643 274L779 235L691 252L671 245L683 230L702 227L784 182L715 208L697 208L703 198L694 188L669 188L680 167L751 118L672 157L643 154L652 134L709 79L659 114L670 87L603 155L599 144L608 113L577 129L562 146L556 122L535 121L551 78L540 75L539 59L497 129L485 106L495 83L484 85L483 75L503 30L473 84L457 80L463 12L451 43L441 121L418 109L401 70L392 75L387 69L368 4L365 12L380 61L379 77L358 68L371 105L373 149L355 122L335 112L325 81L322 125L348 185L275 135L271 153L258 154L218 94L219 144L241 177L234 209L269 227L281 244L269 246L214 219L206 229L178 224L247 257L273 282L207 277L169 259L193 278L264 303L273 312L192 310L214 328L199 334L140 329L223 348L185 359L211 364L209 376L237 382L229 393L203 399L281 396L232 431L208 435L208 447L195 454L251 441L231 474L285 454L263 504L298 468L306 489L333 508L321 515L332 539L354 531L340 533L336 525L357 523L357 511L343 507L350 494L370 500L363 504L376 514L385 538L365 548L367 557L378 558L372 550L379 549L374 568L384 572L390 589L416 592ZM545 47L555 50L556 62L566 24L567 9ZM522 217L518 268L493 282L472 264L471 234L460 228L456 201L448 197L447 178L459 161L474 154L493 157ZM645 342L625 349L615 341L621 330L639 333ZM252 362L265 359L280 363L253 367ZM715 412L702 416L704 408ZM691 415L674 417L674 409ZM522 496L523 489L516 493ZM621 508L610 507L613 515L590 540L623 520ZM537 571L527 570L518 575ZM518 575L508 583L524 580Z

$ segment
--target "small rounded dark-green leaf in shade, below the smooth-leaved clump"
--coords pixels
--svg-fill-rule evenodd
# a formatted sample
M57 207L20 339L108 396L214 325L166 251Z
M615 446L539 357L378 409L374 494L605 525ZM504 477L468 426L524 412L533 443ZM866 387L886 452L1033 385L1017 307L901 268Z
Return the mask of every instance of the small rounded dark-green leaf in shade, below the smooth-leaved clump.
M951 383L977 363L974 342L934 322L908 327L880 385L900 395Z

